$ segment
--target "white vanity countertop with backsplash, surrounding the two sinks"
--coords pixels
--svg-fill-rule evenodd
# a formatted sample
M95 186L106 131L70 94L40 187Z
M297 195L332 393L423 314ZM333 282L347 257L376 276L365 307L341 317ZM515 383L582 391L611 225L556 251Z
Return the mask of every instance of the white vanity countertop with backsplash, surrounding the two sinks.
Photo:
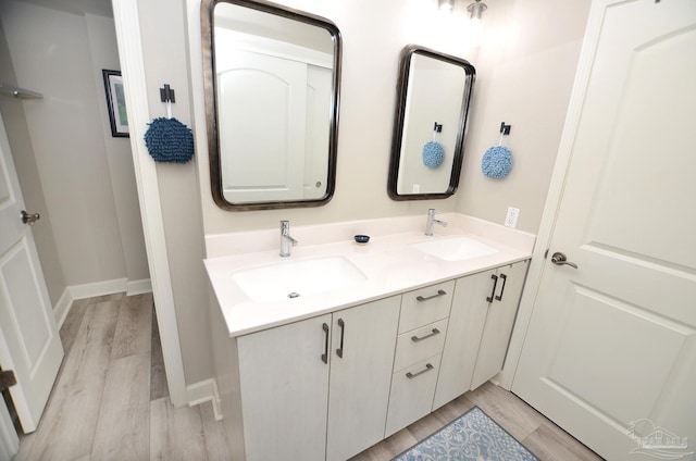
M229 336L309 319L532 257L535 241L532 234L458 213L437 217L449 225L435 226L433 237L423 233L425 216L290 228L290 235L299 244L291 248L289 258L278 256L278 229L210 236L208 254L216 257L203 262ZM389 228L395 233L390 234ZM356 244L352 239L355 234L371 235L370 242ZM474 238L498 251L464 261L445 261L411 247L420 241L456 235ZM272 249L269 248L270 241L274 241ZM254 242L259 242L258 246ZM245 248L248 252L244 252ZM225 252L228 256L222 256ZM366 279L345 288L277 302L252 301L233 279L233 274L240 270L332 256L343 257L355 264Z

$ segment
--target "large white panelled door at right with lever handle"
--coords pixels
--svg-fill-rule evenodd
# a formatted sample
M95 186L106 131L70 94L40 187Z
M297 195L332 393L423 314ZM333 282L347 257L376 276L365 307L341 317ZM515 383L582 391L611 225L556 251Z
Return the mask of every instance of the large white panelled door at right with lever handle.
M607 459L681 458L696 449L696 2L596 1L580 70L512 390Z

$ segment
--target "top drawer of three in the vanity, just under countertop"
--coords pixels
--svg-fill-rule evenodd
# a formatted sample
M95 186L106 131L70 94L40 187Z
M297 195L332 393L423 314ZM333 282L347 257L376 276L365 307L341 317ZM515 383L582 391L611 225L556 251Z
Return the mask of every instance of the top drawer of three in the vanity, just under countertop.
M403 294L399 334L409 332L449 315L455 281Z

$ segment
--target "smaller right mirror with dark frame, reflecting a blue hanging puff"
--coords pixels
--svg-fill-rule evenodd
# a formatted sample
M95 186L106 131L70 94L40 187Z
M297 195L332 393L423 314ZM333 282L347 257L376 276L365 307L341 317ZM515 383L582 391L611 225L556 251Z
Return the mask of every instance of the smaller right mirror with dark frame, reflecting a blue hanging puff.
M475 76L463 59L415 45L401 51L387 180L393 200L457 191Z

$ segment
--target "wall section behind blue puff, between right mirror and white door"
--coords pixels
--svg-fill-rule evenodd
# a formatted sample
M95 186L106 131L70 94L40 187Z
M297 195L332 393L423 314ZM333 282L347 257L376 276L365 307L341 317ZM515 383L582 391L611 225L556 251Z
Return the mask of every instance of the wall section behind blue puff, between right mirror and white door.
M497 0L485 13L459 211L502 223L520 209L518 228L536 233L577 67L591 0ZM510 175L487 178L481 159L512 125L504 144Z

